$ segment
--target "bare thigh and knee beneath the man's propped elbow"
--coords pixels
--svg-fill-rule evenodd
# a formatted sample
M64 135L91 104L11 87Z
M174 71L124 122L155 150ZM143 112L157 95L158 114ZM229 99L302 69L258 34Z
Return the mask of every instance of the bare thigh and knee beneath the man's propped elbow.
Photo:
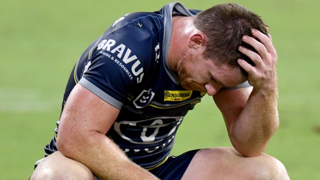
M234 148L202 149L191 160L182 180L289 179L282 163L261 154L246 158Z

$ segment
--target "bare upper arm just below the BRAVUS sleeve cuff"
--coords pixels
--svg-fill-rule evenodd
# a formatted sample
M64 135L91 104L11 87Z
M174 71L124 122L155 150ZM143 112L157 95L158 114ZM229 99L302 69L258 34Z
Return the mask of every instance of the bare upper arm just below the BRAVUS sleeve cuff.
M83 135L95 132L106 134L119 111L77 84L71 91L60 117L58 142L77 140Z

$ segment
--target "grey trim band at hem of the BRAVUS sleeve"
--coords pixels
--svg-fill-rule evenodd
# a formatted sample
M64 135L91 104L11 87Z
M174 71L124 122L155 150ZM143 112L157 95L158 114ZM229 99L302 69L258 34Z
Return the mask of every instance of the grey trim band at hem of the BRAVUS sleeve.
M113 107L117 108L117 109L121 109L123 103L116 100L115 98L113 98L112 96L110 96L109 94L105 93L104 91L102 91L101 89L99 89L97 86L95 86L94 84L92 84L90 81L88 81L85 78L81 78L80 81L78 82L79 84L81 84L82 86L84 86L86 89L88 89L89 91L91 91L93 94L97 95L98 97L100 97L103 101L108 102L110 105L112 105Z

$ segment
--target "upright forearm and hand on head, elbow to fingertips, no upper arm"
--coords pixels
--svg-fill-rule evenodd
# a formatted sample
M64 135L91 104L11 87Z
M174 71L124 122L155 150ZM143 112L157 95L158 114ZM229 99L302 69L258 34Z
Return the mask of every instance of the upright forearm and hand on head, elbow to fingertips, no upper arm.
M238 64L248 72L248 82L253 90L229 133L231 143L244 156L257 156L263 152L279 124L276 49L270 34L252 29L252 35L260 42L250 36L243 36L242 41L256 52L243 46L239 46L238 50L254 65L243 59L238 59Z

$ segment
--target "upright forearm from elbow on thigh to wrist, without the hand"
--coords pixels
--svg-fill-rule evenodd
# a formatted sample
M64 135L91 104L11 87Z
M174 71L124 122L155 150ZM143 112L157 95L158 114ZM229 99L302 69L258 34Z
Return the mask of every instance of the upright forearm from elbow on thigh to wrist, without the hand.
M279 124L277 98L277 88L252 90L230 133L231 143L242 155L257 156L266 149Z

